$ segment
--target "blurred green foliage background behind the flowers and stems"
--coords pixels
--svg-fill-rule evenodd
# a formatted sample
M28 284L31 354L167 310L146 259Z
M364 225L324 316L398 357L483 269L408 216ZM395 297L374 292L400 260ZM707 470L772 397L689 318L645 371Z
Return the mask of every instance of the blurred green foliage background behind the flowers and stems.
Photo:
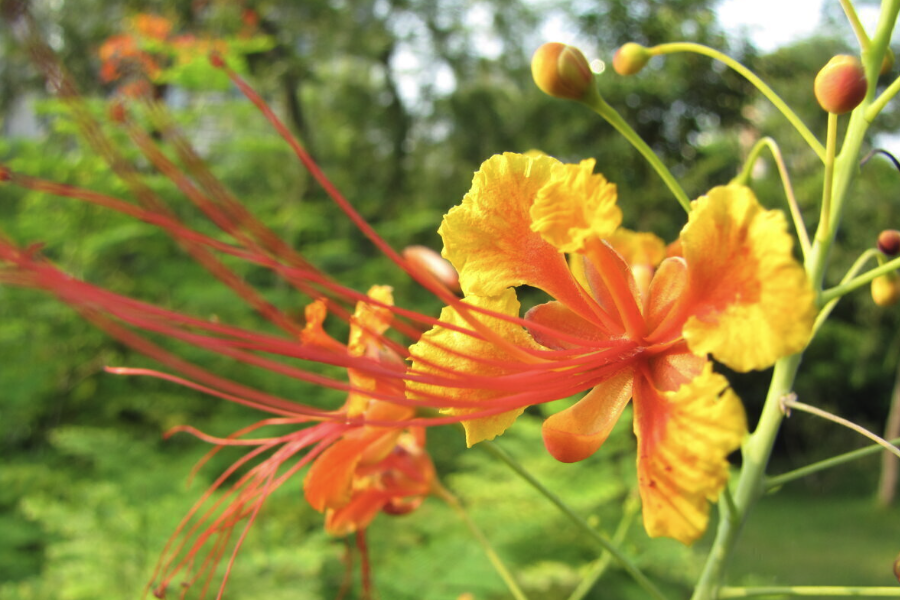
M677 236L683 211L639 155L582 107L548 98L532 84L529 59L540 43L550 41L548 31L565 32L570 39L559 41L574 40L597 59L603 96L693 197L728 182L752 144L773 136L812 229L821 194L817 161L745 81L693 55L654 59L631 78L606 65L628 41L715 46L756 71L824 136L825 115L812 97L813 78L832 55L855 48L837 2L806 16L818 23L809 37L760 47L741 30L726 35L712 0L29 4L98 115L117 86L99 76L100 48L127 31L136 14L161 15L180 32L221 39L238 39L250 27L262 41L241 55L246 76L397 248L440 249L441 216L461 200L481 161L530 149L564 161L596 158L598 170L618 185L626 226L668 241ZM341 282L360 290L390 284L399 304L436 315L434 299L342 218L256 110L209 74L182 72L156 91L216 175ZM898 119L896 107L889 106L873 128L882 135L873 138L872 147L894 142ZM0 162L14 170L127 195L102 159L79 142L71 112L48 96L41 73L6 24L0 28L0 132ZM145 181L173 201L185 222L208 227L134 149L125 144L123 152L137 160ZM762 202L785 209L768 157L754 175ZM834 251L831 282L874 244L880 230L900 228L898 190L900 173L890 162L876 158L862 167ZM267 328L149 225L0 186L0 228L15 240L41 241L45 255L93 283L204 318ZM235 268L267 298L302 318L306 299L263 270ZM842 301L804 360L796 388L800 399L883 432L900 363L898 325L897 309L874 306L865 291ZM302 402L334 406L342 400L215 355L173 348L212 370ZM57 301L0 287L0 600L140 597L181 517L236 458L221 453L187 487L192 466L208 448L186 435L164 440L163 433L187 423L226 435L261 418L172 384L106 374L107 365L153 366ZM730 378L753 422L768 373ZM543 452L539 433L543 412L556 408L530 410L499 444L611 534L634 487L628 420L597 455L561 465ZM851 432L798 414L785 423L772 471L862 445ZM429 450L445 484L482 524L526 592L551 600L576 597L573 592L599 550L505 467L477 448L466 450L458 431L432 431ZM900 552L900 511L892 507L895 485L882 485L879 501L883 478L881 458L872 457L764 499L729 581L896 583L891 562ZM248 537L226 596L335 597L344 577L345 544L328 538L321 523L321 515L303 501L300 478L279 490ZM370 541L381 598L505 597L475 540L436 499L410 516L380 517ZM673 597L686 597L706 544L685 548L648 540L638 521L623 547ZM641 594L613 567L593 590L577 597Z

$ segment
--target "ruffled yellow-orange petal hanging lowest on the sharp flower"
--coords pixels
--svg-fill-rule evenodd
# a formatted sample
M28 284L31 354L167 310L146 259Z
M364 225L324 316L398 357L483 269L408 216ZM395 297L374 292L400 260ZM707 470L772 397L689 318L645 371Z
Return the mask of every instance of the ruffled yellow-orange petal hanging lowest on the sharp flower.
M691 544L706 531L709 501L728 481L727 456L746 434L741 401L707 363L673 392L635 378L634 413L644 527Z

